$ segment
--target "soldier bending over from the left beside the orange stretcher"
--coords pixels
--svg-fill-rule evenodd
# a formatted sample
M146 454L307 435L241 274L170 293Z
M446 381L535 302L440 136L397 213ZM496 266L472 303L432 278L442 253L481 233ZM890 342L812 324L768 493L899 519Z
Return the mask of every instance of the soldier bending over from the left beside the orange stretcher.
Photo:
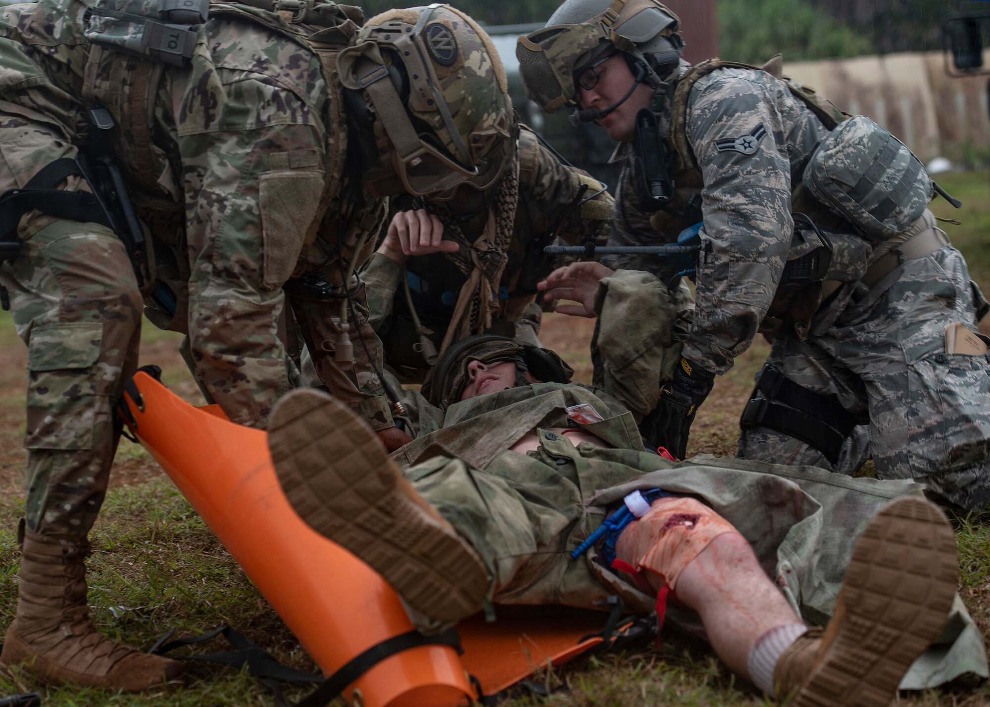
M380 395L375 354L347 370L351 338L358 352L375 347L350 273L373 249L381 197L497 172L512 122L490 41L446 6L394 25L403 53L375 38L348 48L360 12L333 3L204 2L185 15L166 5L44 0L0 13L0 186L52 204L92 191L74 158L96 140L86 109L101 106L157 255L139 290L102 211L56 213L36 199L20 218L4 212L12 233L0 240L21 243L0 281L29 350L28 501L0 660L125 690L180 671L101 636L86 604L86 538L119 439L113 405L137 365L143 295L156 323L188 334L228 417L256 427L297 382L288 301L329 389L397 446L408 438ZM66 163L60 183L33 191ZM4 194L4 208L18 198Z

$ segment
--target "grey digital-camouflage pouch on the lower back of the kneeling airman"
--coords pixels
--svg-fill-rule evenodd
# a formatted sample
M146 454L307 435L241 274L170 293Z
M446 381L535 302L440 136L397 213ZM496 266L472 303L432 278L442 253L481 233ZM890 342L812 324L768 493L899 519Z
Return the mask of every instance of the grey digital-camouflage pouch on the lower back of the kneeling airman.
M822 141L803 184L870 241L910 228L935 190L921 160L865 116L842 121Z

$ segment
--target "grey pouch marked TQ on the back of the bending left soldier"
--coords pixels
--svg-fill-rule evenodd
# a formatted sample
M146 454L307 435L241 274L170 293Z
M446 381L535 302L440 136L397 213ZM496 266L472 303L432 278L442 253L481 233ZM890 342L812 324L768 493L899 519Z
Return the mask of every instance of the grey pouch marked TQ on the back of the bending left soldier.
M83 34L95 45L185 66L196 48L190 26L207 20L209 0L99 0Z

